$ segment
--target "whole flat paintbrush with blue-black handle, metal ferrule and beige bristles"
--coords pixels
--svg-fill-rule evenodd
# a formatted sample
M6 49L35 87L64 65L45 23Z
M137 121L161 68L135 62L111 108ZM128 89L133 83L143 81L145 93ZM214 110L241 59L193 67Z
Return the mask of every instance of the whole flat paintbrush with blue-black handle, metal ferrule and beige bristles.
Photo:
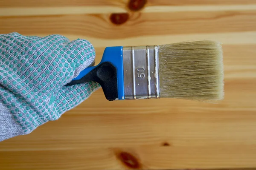
M107 47L99 65L67 85L98 82L108 100L224 97L221 43L200 40L166 45Z

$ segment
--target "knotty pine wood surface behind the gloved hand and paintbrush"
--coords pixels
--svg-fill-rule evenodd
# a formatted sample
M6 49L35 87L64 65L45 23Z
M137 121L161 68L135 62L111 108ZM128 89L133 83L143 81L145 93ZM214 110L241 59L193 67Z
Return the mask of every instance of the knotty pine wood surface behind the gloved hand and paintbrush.
M87 39L96 62L106 46L218 40L224 101L108 102L99 90L59 120L1 142L1 170L256 167L256 0L148 0L139 11L127 4L0 0L0 34ZM126 12L126 22L111 22L112 13Z

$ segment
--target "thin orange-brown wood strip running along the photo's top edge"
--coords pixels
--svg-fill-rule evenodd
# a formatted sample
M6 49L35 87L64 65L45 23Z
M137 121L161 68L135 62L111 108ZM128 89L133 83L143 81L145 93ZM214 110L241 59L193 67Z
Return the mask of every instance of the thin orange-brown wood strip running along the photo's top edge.
M0 7L49 7L49 6L121 6L129 0L0 0ZM256 4L255 0L148 0L147 6L190 5L243 5Z

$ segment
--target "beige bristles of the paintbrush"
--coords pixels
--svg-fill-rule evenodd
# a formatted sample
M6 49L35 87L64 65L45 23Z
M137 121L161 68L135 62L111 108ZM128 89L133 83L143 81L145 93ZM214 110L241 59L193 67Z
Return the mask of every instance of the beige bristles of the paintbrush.
M159 76L161 97L223 99L221 44L201 40L159 45Z

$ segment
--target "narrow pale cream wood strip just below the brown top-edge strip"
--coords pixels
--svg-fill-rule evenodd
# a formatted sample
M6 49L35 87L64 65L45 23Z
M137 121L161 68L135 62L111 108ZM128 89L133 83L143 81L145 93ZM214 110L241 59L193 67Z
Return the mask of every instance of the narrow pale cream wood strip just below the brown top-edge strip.
M195 12L195 11L251 11L256 5L206 5L206 6L147 6L140 13L161 12ZM126 7L119 6L70 6L70 7L23 7L0 8L0 16L49 16L68 14L109 14L124 13L129 11Z

